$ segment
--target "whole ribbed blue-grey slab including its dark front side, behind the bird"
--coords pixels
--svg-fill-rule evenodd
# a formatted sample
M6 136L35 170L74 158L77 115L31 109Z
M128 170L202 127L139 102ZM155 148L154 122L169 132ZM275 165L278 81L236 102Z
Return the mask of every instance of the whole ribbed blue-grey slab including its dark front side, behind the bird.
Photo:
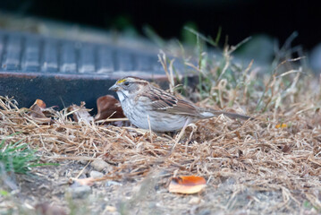
M0 59L0 95L20 107L43 99L47 106L85 101L93 108L122 76L166 80L156 53L20 32L0 30Z

